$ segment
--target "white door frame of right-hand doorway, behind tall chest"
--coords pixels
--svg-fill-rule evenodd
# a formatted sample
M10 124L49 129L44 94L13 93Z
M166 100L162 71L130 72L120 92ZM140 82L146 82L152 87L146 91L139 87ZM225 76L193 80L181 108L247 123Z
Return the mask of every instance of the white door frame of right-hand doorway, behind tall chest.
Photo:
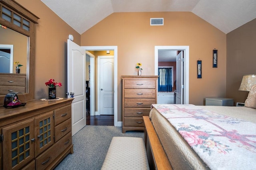
M183 82L180 84L180 88L183 89L183 100L181 104L189 104L189 46L155 46L155 75L158 75L158 52L161 50L183 51ZM180 69L179 66L176 66L176 70L178 69ZM176 79L179 78L176 77Z

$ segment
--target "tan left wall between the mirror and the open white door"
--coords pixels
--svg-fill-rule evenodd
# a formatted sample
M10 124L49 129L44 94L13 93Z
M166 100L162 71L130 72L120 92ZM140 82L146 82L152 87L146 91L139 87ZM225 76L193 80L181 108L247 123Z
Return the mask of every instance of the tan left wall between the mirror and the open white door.
M60 19L40 0L16 0L40 19L36 24L35 51L35 98L48 97L45 85L50 78L61 82L57 87L57 97L66 97L66 46L68 35L80 45L80 34Z

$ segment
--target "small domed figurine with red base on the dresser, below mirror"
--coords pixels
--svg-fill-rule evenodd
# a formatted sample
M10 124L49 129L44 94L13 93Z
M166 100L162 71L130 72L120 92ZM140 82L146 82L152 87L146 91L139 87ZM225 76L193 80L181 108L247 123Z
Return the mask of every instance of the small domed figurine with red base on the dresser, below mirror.
M10 92L8 94L6 94L5 98L4 98L4 107L18 107L18 106L25 106L26 103L21 103L19 98L18 98L18 94L14 93L14 92Z

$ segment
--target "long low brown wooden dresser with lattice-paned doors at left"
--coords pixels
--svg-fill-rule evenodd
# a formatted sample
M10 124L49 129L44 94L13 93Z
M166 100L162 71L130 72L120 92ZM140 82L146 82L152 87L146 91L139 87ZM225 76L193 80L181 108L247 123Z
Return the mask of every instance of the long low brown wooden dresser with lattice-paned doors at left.
M0 107L0 170L53 169L72 154L72 100Z

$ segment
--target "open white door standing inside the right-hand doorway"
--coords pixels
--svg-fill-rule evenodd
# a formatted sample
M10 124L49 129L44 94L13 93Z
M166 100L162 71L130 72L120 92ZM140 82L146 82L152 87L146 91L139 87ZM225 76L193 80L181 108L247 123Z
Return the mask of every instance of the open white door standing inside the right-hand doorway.
M176 104L183 103L183 51L176 57Z

